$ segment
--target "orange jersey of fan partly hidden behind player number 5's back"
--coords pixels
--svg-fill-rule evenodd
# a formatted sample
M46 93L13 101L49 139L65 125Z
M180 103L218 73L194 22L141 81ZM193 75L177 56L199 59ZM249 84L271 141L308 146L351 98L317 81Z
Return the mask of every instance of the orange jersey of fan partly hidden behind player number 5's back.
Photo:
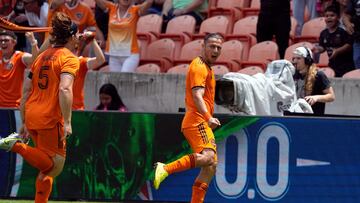
M76 75L76 78L74 80L74 86L73 86L73 110L84 110L84 83L85 83L85 76L88 71L87 67L87 61L89 58L87 57L79 57L80 61L80 68L79 72Z

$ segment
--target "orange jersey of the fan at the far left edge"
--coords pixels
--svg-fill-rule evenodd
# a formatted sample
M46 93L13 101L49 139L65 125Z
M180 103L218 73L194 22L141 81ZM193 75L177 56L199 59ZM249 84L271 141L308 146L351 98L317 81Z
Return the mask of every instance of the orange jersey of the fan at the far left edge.
M17 108L20 105L26 68L22 60L24 54L16 51L8 63L3 62L0 57L0 107Z

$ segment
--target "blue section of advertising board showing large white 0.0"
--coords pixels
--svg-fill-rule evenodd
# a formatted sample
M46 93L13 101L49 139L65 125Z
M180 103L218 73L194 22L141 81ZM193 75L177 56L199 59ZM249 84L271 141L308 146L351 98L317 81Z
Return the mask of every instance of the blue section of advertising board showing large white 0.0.
M189 201L198 172L170 175L153 199ZM218 143L205 202L360 202L360 120L260 119Z

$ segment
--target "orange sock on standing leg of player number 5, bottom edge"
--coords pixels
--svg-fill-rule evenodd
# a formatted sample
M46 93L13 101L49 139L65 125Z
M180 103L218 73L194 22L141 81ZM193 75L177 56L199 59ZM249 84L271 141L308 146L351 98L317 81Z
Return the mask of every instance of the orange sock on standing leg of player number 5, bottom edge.
M47 203L51 190L52 190L53 178L45 176L43 180L36 178L36 194L35 203Z

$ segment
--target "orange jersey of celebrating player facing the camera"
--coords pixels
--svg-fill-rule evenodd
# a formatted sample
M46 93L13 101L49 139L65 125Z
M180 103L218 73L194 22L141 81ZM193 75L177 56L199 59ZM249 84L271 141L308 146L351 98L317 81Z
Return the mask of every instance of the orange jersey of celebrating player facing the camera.
M205 121L205 118L198 112L192 96L194 87L204 87L203 96L206 109L212 115L214 113L215 99L215 76L212 69L200 58L195 58L186 75L185 105L186 113L181 128L195 127Z

